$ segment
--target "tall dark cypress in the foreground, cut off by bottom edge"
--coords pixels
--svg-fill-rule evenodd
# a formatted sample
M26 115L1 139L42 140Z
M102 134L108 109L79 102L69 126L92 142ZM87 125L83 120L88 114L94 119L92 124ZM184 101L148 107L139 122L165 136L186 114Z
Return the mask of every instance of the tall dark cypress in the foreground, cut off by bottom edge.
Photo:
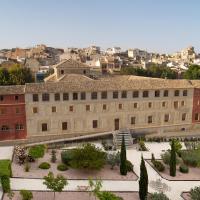
M148 195L148 174L143 156L140 164L139 196L140 200L146 200Z

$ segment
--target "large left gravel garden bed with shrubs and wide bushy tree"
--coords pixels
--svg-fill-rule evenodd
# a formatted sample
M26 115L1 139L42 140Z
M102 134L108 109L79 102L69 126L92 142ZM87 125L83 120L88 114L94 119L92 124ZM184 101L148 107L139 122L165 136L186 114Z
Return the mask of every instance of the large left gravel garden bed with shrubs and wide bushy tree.
M48 172L68 179L137 180L133 165L126 161L128 173L120 174L120 153L106 152L93 144L74 149L48 149L17 146L12 163L13 177L43 178Z

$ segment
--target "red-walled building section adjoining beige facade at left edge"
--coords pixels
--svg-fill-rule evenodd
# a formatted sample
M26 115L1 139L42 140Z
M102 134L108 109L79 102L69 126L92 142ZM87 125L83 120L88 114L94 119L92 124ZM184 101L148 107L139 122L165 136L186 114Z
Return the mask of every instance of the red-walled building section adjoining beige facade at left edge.
M0 91L0 141L26 138L24 86L2 86Z

